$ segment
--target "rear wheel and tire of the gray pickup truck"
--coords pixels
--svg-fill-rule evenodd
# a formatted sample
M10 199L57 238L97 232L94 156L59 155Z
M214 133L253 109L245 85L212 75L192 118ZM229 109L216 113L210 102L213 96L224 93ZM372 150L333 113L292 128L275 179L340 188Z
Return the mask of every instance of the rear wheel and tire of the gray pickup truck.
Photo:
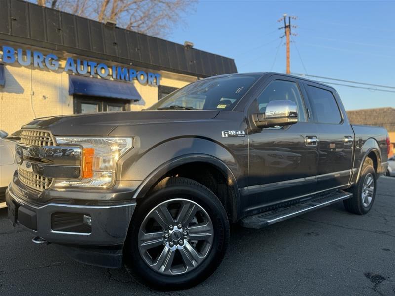
M370 185L366 187L367 183ZM343 201L344 207L350 213L359 215L367 214L376 198L376 188L377 174L373 167L373 160L366 158L359 181L349 189L353 193L353 197Z

